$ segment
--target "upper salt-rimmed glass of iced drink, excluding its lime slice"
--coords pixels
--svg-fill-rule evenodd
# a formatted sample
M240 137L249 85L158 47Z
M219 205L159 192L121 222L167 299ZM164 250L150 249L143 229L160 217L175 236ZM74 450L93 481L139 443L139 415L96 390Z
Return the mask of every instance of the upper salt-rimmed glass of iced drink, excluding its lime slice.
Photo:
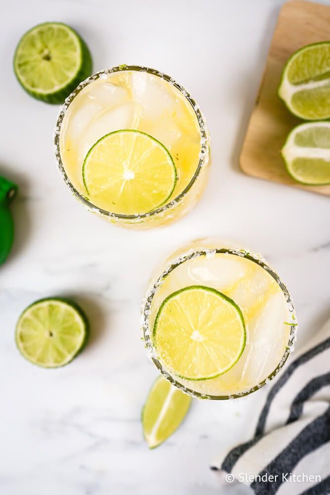
M100 138L120 130L151 136L173 159L173 190L150 211L123 214L116 206L105 208L85 187L83 164L89 150ZM209 135L200 109L183 86L154 69L123 65L83 81L61 109L54 142L59 170L73 195L89 210L125 227L152 227L181 217L206 184ZM132 177L126 170L125 186ZM104 180L104 187L111 181L113 177Z

